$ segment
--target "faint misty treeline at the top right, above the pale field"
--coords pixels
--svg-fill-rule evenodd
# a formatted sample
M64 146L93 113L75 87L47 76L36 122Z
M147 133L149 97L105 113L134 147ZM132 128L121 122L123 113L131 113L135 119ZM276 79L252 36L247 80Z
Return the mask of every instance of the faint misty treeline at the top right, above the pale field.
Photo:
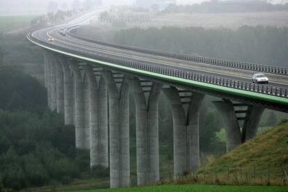
M288 3L272 4L266 1L205 1L193 5L170 4L161 13L248 13L288 10Z

